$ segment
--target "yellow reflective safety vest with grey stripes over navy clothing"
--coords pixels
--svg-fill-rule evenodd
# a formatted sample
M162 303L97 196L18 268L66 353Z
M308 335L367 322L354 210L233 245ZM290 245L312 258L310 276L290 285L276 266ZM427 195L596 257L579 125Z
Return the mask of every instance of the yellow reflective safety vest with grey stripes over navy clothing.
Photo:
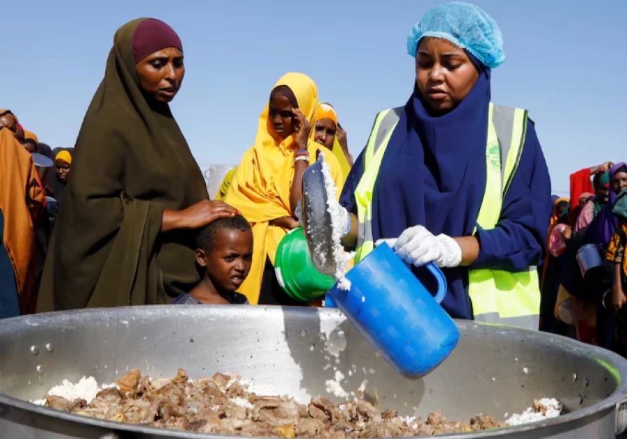
M364 151L364 172L355 191L359 222L355 263L374 249L372 192L381 160L402 111L403 107L399 107L377 114ZM494 229L498 224L502 201L523 153L527 120L526 110L490 104L486 189L477 216L477 224L484 230ZM540 288L536 267L523 272L469 270L468 294L475 321L533 330L539 327Z

